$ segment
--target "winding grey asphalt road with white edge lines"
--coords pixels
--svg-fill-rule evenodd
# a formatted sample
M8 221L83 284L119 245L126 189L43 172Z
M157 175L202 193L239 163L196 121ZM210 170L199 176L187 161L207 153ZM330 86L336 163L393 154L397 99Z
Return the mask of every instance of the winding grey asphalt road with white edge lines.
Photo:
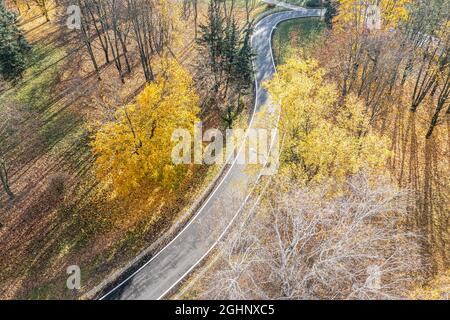
M270 103L261 83L275 74L271 36L282 21L321 16L320 9L296 8L274 13L260 20L253 32L256 97L253 118L261 107ZM276 127L276 120L268 123ZM243 150L239 150L244 152ZM217 187L182 231L140 269L118 284L101 299L161 299L188 275L215 247L249 199L261 172L249 172L246 166L233 162Z

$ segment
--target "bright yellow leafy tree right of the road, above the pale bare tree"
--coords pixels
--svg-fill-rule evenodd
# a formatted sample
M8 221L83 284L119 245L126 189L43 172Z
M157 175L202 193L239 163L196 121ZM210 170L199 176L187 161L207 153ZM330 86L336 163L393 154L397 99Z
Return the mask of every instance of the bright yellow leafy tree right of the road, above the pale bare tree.
M289 59L266 83L281 106L281 170L307 182L343 181L363 166L385 165L388 141L371 131L355 97L338 105L337 89L324 81L316 61Z

